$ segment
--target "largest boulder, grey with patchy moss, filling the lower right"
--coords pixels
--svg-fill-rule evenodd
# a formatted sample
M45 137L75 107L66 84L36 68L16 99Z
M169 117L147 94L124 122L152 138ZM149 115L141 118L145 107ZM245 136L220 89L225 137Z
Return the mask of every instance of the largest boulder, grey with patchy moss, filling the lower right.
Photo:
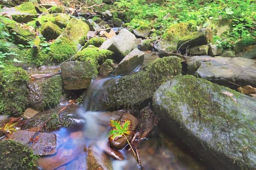
M178 76L153 96L159 125L214 169L256 168L256 100L193 76Z

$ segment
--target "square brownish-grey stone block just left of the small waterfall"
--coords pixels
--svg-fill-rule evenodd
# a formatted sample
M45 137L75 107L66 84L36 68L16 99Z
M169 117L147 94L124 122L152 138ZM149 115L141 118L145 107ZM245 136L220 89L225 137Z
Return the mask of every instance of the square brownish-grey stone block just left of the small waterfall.
M84 77L89 72L87 62L69 61L61 64L61 77L65 90L88 88L91 78Z

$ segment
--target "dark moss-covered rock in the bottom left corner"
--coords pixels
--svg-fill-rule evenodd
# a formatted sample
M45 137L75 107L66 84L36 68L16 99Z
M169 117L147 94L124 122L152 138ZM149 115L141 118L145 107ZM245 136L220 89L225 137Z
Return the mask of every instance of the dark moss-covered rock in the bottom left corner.
M1 170L32 170L38 156L20 142L14 140L0 141L0 169Z

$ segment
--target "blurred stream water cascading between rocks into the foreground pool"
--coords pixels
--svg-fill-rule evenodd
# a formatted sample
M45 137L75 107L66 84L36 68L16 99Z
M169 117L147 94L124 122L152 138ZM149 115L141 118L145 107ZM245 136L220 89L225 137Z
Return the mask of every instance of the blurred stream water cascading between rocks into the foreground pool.
M144 64L157 59L158 56L151 55L152 52L145 51ZM143 66L142 65L142 66ZM135 71L139 71L141 67ZM120 76L119 76L120 77ZM87 89L84 106L71 105L61 114L67 114L76 121L76 125L51 131L54 133L62 144L57 153L51 156L42 156L37 164L41 169L58 170L83 170L86 169L86 152L84 148L92 146L101 154L108 144L108 126L109 119L120 119L125 111L87 111L87 106L97 98L97 89L104 88L106 81L111 81L118 77L98 77L93 80ZM53 111L59 111L64 108L67 102L61 102L57 108L45 111L39 114L50 114ZM40 115L37 115L40 116ZM140 119L140 118L139 118ZM137 161L132 153L128 151L129 146L120 150L125 157L123 161L117 161L108 156L113 166L113 170L136 170L138 169ZM147 139L140 141L138 153L144 170L204 170L206 167L201 164L191 153L177 145L174 139L169 137L160 127L155 127ZM99 154L99 155L101 155ZM99 159L101 157L99 156Z

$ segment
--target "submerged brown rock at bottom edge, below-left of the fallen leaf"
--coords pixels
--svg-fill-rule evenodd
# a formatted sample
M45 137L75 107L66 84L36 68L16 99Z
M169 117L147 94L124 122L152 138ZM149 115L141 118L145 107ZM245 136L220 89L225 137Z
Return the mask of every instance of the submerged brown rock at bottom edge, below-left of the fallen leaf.
M101 150L89 146L85 151L87 152L87 170L113 170L111 160Z

